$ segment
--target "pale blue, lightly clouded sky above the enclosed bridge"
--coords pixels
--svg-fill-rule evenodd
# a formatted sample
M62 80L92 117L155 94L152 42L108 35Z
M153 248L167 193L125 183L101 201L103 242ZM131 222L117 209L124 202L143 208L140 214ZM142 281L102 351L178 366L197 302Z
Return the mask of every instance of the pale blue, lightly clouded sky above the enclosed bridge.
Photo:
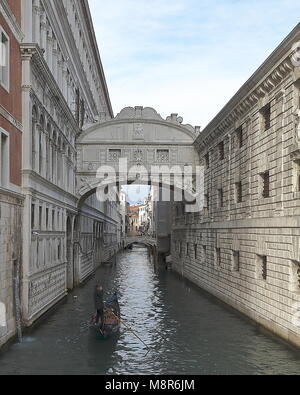
M204 127L299 22L299 0L89 0L115 114Z

